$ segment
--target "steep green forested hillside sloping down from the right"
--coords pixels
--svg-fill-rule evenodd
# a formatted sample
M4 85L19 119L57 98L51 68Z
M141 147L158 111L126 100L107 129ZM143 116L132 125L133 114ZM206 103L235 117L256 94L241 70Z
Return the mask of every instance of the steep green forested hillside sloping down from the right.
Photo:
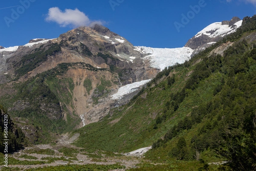
M163 70L129 104L75 131L75 145L116 152L152 145L146 158L157 162L228 161L221 169L255 170L255 29L256 16L245 17L237 32Z

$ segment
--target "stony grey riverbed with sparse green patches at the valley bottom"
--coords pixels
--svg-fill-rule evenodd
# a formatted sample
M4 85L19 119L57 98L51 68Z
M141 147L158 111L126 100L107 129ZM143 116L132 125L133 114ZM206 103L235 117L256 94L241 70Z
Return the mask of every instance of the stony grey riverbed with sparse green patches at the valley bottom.
M67 149L70 151L65 151ZM142 161L140 157L104 153L105 152L103 151L88 153L84 152L81 148L67 144L35 145L34 147L28 147L14 154L10 154L8 167L9 169L19 168L20 171L25 171L31 168L42 168L60 165L119 164L125 166L126 169L129 169L135 168L136 165ZM125 169L115 169L115 171L123 170Z

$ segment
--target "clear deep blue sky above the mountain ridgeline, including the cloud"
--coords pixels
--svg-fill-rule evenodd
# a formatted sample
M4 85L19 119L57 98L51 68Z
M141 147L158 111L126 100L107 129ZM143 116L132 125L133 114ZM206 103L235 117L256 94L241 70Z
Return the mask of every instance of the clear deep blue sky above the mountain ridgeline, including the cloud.
M186 23L182 14L190 14ZM211 23L254 14L256 0L9 0L0 4L0 46L57 38L97 22L134 46L175 48Z

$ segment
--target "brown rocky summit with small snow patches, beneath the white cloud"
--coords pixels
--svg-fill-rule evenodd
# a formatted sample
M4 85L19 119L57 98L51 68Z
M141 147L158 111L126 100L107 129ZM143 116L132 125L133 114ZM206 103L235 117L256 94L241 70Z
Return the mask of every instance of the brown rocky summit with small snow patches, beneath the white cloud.
M96 24L93 27L79 27L60 35L58 41L66 41L70 46L78 46L83 43L90 49L93 55L108 53L121 60L130 61L130 57L140 58L140 52L120 35L111 32L105 26ZM97 46L95 46L97 45Z

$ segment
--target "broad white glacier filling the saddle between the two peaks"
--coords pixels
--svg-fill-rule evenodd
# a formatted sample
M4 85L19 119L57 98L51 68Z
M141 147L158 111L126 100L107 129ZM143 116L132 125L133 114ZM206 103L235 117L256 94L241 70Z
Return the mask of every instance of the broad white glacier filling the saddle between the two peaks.
M181 48L151 48L145 46L136 46L134 50L140 51L143 54L150 53L151 55L144 58L150 60L151 67L159 70L164 70L166 67L172 66L176 63L182 64L190 59L190 56L194 52L189 47Z

